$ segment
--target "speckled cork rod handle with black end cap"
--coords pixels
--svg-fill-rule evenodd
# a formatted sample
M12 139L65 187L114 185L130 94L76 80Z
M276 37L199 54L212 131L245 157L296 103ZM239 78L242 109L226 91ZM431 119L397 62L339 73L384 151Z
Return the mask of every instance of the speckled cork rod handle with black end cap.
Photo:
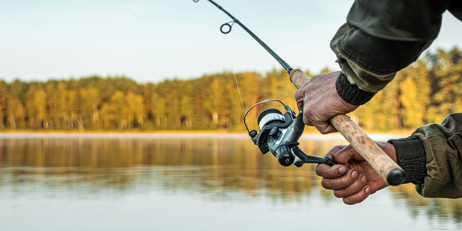
M299 89L310 82L310 77L299 69L293 70L289 78ZM345 137L356 151L382 176L390 185L399 185L404 181L404 171L361 129L350 116L340 114L330 118L330 122Z

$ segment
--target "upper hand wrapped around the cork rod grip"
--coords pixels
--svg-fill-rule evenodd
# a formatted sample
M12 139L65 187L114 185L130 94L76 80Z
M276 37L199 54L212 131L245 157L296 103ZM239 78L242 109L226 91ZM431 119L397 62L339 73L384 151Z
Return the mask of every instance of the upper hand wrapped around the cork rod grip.
M335 88L339 72L318 74L310 82L295 92L298 109L303 108L303 121L315 126L321 134L337 132L329 119L354 111L358 106L346 103Z

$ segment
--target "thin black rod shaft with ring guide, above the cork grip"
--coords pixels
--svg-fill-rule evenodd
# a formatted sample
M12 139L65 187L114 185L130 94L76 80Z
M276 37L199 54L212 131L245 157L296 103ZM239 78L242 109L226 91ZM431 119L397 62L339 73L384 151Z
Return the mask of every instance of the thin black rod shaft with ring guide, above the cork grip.
M194 2L198 2L199 0L193 0ZM284 69L286 69L287 73L290 74L292 73L293 71L293 68L291 66L289 66L289 64L286 63L286 61L284 61L278 54L276 54L276 52L274 52L273 49L269 48L268 45L266 43L264 43L263 41L261 41L261 39L256 36L251 30L249 30L249 28L247 28L244 24L242 24L239 20L237 20L237 18L234 18L234 16L232 16L232 14L230 14L229 12L227 12L225 9L223 9L222 6L218 5L216 2L214 2L213 0L208 0L209 2L211 2L213 5L217 6L220 10L222 10L223 12L225 12L225 14L227 14L231 19L232 21L230 22L227 22L227 23L224 23L220 26L220 31L221 33L223 34L228 34L229 32L231 32L231 28L233 26L234 23L237 23L239 24L242 29L244 29L245 31L247 31L247 33L249 33L250 36L252 36L253 38L255 38L255 40L260 43L260 45L266 49L269 54L273 55L273 57L276 59L276 61L278 61L282 67L284 67ZM231 23L231 24L230 24ZM229 27L228 30L224 30L223 28L227 26Z

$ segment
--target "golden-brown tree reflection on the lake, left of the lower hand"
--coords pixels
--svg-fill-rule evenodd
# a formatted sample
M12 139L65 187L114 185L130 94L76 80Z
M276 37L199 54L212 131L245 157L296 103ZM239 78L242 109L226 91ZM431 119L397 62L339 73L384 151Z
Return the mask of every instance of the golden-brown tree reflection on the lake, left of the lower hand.
M305 141L302 148L321 155L331 143ZM283 167L249 140L6 139L0 146L0 162L10 166L4 168L9 178L3 184L19 188L36 182L85 194L156 185L171 191L221 196L240 191L249 197L289 201L317 188L317 193L332 198L319 187L314 164Z

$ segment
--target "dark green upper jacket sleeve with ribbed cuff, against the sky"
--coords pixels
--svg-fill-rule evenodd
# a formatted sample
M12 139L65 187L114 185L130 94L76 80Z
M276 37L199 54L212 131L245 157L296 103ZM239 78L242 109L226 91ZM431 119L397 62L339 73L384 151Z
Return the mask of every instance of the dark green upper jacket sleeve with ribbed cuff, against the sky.
M336 87L353 105L369 101L438 36L451 0L355 0L330 46L342 74Z

